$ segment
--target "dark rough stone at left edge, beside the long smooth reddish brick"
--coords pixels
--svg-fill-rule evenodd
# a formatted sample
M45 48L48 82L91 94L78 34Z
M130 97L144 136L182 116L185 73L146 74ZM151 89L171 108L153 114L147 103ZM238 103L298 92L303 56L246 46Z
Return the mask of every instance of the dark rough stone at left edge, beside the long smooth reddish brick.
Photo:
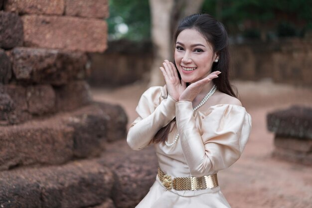
M17 14L0 11L0 48L10 49L23 43L23 23Z

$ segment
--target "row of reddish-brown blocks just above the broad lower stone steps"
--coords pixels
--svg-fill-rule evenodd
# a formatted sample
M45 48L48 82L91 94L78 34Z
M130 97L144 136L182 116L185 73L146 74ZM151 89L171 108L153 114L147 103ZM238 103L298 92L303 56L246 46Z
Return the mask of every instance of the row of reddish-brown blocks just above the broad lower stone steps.
M0 86L0 94L6 97L1 101L2 105L12 102L10 110L3 110L4 107L0 106L0 125L19 124L60 111L72 111L92 102L89 85L85 81L54 87L49 84L6 84Z

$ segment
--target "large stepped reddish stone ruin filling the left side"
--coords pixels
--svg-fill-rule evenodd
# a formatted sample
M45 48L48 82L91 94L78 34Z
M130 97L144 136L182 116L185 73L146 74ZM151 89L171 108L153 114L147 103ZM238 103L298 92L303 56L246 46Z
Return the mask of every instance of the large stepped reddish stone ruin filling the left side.
M156 177L127 116L92 100L108 0L0 0L0 207L131 208Z

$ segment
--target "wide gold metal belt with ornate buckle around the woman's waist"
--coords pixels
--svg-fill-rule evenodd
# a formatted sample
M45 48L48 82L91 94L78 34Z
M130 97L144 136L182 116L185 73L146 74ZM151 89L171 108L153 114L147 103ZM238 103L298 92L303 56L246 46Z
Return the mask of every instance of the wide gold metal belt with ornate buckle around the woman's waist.
M157 176L161 184L167 189L175 189L177 191L184 190L203 190L212 189L218 185L217 174L202 177L183 177L171 179L171 176L166 175L158 168Z

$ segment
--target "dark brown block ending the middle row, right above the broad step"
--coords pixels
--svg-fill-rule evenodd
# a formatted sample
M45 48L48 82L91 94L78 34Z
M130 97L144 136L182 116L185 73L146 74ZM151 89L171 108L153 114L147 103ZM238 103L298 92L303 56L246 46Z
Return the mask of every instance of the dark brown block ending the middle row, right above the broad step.
M89 85L85 81L74 81L55 87L56 107L60 111L75 110L92 102Z

